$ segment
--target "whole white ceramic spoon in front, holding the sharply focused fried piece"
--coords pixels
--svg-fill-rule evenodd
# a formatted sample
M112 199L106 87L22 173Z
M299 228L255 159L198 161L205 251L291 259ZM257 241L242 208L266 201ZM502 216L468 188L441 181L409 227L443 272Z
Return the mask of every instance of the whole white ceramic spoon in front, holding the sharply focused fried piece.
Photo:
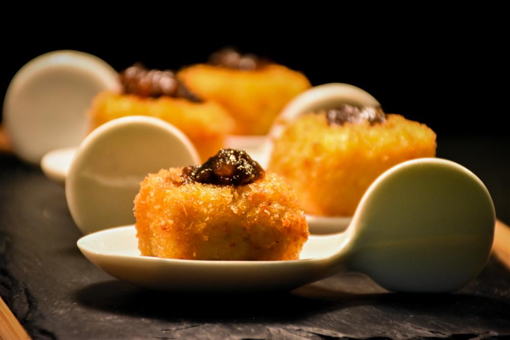
M311 236L301 259L206 261L140 256L133 226L83 237L78 247L118 279L196 292L291 290L346 271L397 292L452 292L475 278L493 242L489 192L472 172L442 159L399 164L377 178L349 228Z

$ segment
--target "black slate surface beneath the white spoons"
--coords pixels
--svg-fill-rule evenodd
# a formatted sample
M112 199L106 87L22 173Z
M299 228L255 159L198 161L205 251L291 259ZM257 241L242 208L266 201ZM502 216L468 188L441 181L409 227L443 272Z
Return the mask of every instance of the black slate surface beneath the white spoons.
M438 155L486 182L510 221L508 139L439 142ZM0 295L34 338L336 339L510 336L510 272L491 258L455 294L393 294L359 275L291 293L147 291L94 267L75 242L64 189L0 154Z

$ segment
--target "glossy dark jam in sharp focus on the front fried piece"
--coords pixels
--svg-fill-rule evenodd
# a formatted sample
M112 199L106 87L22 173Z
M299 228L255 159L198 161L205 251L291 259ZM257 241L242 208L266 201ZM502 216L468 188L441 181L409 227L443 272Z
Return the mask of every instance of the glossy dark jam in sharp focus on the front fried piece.
M264 169L246 151L221 149L206 163L183 168L181 177L187 183L242 186L263 179L264 175Z

